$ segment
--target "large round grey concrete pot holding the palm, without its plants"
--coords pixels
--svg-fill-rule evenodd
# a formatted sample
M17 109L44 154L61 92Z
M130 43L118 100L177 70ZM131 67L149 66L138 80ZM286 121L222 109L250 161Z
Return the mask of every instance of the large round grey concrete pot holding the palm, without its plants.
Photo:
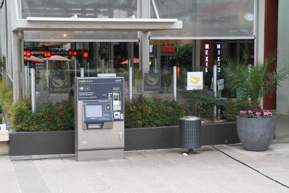
M246 118L236 117L239 140L246 150L266 151L275 136L276 117Z

